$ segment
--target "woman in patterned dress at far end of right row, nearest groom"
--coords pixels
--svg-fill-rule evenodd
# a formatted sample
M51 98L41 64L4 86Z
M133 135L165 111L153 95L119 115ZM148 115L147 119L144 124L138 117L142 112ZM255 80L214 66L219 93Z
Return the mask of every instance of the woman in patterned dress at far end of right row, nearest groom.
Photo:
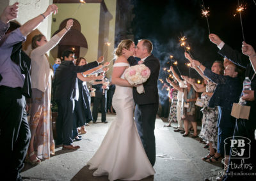
M174 80L174 83L177 84L177 80ZM171 106L170 106L170 113L168 117L169 124L164 125L164 127L171 127L172 122L177 122L177 95L178 91L175 88L169 87L168 97L172 100Z

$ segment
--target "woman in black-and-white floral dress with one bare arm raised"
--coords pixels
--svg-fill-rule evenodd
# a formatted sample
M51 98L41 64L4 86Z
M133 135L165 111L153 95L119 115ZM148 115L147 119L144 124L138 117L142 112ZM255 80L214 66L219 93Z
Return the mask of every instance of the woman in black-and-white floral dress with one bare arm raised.
M185 52L185 57L193 64L193 59L191 56ZM230 64L228 62L227 64ZM212 82L209 78L204 76L204 72L201 71L200 68L192 66L192 68L195 68L195 70L199 73L204 80L207 81L206 85L206 92L202 93L202 97L204 98L204 107L202 111L204 112L205 115L205 121L204 124L202 125L202 131L200 133L200 138L205 140L207 143L209 143L209 154L207 156L203 157L203 161L210 161L211 157L214 156L215 150L217 148L218 144L218 107L215 106L214 108L209 107L209 101L212 98L213 92L216 89L216 83ZM211 71L213 73L216 73L217 75L223 75L223 64L220 61L214 61L211 67ZM194 87L194 86L193 86ZM200 91L200 90L197 90Z

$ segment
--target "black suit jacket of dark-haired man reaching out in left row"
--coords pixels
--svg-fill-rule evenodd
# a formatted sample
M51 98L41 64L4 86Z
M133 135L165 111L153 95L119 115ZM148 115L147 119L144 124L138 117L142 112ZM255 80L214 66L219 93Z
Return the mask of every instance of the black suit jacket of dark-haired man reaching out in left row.
M91 62L84 66L75 66L72 61L61 62L54 75L53 99L72 99L72 92L75 88L77 73L87 71L98 66L98 63Z

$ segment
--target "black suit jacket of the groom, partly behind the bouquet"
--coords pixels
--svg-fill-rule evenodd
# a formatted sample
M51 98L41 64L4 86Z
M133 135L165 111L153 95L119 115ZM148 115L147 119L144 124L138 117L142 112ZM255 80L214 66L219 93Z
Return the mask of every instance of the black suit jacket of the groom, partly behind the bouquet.
M131 66L138 64L134 57L129 57L128 62ZM150 69L150 76L148 80L143 83L145 93L139 94L136 90L136 87L133 87L132 93L134 102L138 105L148 105L152 103L159 103L158 89L157 89L157 80L159 76L160 64L159 60L150 55L143 62L145 66Z

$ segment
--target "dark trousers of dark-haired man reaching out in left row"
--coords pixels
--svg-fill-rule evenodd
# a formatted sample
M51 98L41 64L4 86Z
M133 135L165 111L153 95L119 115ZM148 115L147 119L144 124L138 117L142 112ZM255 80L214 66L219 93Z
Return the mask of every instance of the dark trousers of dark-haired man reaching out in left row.
M60 99L56 102L58 105L56 145L72 145L74 99Z

